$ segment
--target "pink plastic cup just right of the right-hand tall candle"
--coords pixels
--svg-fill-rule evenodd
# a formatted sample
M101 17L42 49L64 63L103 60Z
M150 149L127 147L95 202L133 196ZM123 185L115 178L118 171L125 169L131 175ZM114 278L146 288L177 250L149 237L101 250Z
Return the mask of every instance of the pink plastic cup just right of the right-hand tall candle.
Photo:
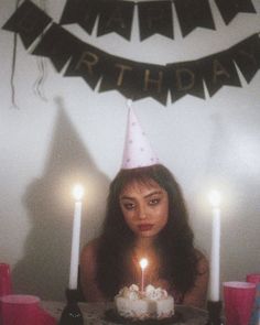
M226 325L248 325L256 296L256 283L224 282Z

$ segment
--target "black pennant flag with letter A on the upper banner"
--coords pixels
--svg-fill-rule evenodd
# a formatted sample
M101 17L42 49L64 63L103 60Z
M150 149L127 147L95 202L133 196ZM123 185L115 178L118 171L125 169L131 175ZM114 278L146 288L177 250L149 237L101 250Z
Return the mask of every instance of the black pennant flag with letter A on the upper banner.
M134 3L128 1L102 2L97 35L116 32L130 40Z

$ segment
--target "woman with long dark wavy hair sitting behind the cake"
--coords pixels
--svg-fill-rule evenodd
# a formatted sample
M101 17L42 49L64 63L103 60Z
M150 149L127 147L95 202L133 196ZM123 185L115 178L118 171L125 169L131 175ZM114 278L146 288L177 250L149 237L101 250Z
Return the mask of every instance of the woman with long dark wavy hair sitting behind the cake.
M121 170L110 185L102 234L80 257L86 301L112 300L131 283L145 282L171 293L176 303L203 307L208 262L193 245L182 192L161 164Z

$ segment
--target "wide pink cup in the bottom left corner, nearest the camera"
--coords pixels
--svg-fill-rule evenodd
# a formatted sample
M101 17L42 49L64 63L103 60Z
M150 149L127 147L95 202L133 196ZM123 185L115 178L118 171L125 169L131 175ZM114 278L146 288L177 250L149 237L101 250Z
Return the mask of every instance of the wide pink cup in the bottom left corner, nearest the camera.
M9 294L0 297L4 325L40 325L40 299L34 295Z

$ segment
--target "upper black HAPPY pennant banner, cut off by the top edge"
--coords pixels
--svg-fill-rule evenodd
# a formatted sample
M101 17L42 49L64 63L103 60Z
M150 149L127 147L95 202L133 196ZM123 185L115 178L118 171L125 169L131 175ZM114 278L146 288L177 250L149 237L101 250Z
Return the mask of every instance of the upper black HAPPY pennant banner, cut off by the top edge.
M215 0L226 24L239 12L256 13L251 0ZM91 34L98 19L97 36L115 32L130 40L134 6L138 9L140 40L159 33L174 39L173 9L180 23L183 37L196 28L215 30L208 0L172 1L118 1L118 0L67 0L61 24L79 24Z

